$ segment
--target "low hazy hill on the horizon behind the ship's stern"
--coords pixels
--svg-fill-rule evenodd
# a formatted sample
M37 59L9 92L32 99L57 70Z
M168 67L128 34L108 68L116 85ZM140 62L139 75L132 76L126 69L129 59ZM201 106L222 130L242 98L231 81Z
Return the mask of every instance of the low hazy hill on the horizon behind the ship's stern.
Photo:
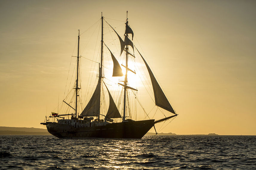
M50 135L47 129L0 126L0 135Z

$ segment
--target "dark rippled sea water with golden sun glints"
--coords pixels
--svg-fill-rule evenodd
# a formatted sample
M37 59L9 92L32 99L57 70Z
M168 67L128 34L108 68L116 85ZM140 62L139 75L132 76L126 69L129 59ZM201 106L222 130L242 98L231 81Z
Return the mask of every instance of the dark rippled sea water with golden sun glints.
M256 169L256 136L0 136L0 169Z

